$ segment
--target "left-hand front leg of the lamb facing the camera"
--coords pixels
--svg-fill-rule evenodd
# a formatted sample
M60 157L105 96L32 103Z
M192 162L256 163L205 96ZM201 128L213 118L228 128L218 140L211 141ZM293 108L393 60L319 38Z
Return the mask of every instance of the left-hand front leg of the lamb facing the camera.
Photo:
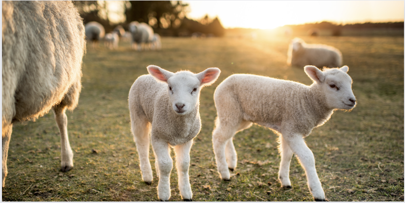
M156 154L157 166L159 168L159 182L157 184L157 197L161 201L170 199L170 173L173 168L173 160L170 157L169 144L164 141L153 139L152 147Z

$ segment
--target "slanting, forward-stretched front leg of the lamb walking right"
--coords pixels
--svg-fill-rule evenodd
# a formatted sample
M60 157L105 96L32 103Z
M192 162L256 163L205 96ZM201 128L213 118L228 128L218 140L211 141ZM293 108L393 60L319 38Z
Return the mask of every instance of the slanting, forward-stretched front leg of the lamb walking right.
M306 146L303 136L299 134L287 134L284 136L283 134L283 138L292 152L297 155L301 166L304 168L308 188L312 196L316 201L325 201L325 192L316 173L314 154Z

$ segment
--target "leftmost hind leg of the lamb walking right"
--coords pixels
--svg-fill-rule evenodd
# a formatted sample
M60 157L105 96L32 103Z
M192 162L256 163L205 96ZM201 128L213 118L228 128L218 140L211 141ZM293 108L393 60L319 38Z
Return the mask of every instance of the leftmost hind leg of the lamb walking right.
M221 178L227 181L230 180L230 173L228 170L225 148L228 140L233 137L235 132L236 129L232 129L232 127L224 127L219 124L212 133L212 146L214 148L218 172Z

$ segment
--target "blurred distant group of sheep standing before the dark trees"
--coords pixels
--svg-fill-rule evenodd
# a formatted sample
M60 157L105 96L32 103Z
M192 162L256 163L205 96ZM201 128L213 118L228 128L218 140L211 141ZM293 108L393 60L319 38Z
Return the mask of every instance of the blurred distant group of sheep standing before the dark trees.
M112 32L107 34L105 34L104 27L94 21L87 23L84 27L86 39L92 48L95 48L100 41L104 41L104 45L108 49L118 49L121 37L124 41L130 41L131 48L138 51L162 49L160 35L153 33L152 27L146 23L131 22L129 31L125 31L123 26L118 25Z

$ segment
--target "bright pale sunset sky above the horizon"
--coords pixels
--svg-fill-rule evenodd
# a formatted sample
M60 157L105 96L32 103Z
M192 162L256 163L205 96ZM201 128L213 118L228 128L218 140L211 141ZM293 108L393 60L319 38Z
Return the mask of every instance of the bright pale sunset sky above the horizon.
M322 21L337 24L404 21L404 1L184 0L187 18L218 17L225 28L271 29Z

